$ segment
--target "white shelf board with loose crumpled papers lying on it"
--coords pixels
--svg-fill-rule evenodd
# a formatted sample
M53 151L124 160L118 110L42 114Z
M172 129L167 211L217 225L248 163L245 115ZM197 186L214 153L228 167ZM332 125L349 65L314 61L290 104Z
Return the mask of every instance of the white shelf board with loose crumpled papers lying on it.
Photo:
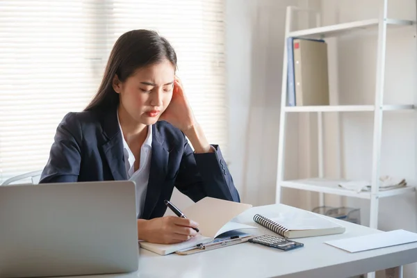
M295 188L300 190L308 190L319 193L328 193L339 196L357 197L361 199L370 199L370 192L357 193L353 190L340 188L338 183L343 180L337 179L298 179L293 181L281 181L279 184L284 188ZM395 195L414 193L416 188L414 186L404 186L402 188L395 188L391 190L379 191L379 197L390 197Z

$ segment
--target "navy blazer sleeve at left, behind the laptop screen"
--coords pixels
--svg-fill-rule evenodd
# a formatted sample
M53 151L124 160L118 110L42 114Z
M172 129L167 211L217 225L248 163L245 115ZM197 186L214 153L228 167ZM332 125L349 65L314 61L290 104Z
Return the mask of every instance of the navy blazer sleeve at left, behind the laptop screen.
M56 129L39 183L77 181L81 165L81 141L81 124L75 113L68 113Z

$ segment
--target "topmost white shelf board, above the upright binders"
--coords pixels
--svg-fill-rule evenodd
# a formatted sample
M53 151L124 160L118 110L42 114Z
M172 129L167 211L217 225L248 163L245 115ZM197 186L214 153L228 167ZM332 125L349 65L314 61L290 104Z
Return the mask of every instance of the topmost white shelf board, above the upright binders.
M335 24L329 26L322 26L317 28L309 28L300 31L293 31L288 34L289 37L299 38L317 38L317 37L333 37L343 33L355 31L365 28L377 28L379 19L368 19L357 22L347 22L342 24ZM414 24L411 20L402 19L386 19L386 24L389 26L407 26Z

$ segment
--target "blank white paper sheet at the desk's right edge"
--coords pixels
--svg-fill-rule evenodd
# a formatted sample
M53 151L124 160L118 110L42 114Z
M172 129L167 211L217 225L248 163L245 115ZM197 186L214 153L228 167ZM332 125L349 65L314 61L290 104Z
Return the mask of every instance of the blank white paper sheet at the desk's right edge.
M414 242L417 242L416 233L399 229L379 234L370 234L367 236L329 240L326 243L342 250L346 250L347 252L354 253Z

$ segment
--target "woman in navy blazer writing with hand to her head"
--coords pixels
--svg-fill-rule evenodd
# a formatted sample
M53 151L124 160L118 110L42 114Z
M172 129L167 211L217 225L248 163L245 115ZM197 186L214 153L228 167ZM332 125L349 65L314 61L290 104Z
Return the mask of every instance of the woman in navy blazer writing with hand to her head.
M179 243L197 223L163 217L177 187L197 202L240 202L217 145L209 145L175 76L177 56L154 31L124 33L113 47L97 95L60 122L40 183L136 182L138 238ZM191 149L186 137L194 147Z

